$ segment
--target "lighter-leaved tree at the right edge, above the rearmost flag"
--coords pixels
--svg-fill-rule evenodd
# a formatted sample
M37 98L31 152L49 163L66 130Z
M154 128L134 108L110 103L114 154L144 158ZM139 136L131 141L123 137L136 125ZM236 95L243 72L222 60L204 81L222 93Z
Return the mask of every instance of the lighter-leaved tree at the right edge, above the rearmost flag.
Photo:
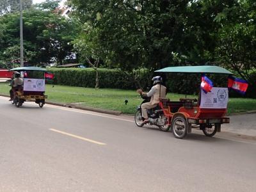
M254 83L250 74L256 71L256 4L252 0L237 1L216 17L218 60L239 76Z

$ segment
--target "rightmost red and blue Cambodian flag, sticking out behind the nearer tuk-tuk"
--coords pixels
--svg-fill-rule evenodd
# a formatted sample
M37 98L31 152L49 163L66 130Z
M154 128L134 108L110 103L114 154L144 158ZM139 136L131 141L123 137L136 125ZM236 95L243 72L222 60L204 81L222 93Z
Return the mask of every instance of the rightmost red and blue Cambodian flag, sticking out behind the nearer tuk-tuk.
M228 88L232 88L236 92L244 95L248 88L248 83L243 79L238 79L236 77L230 76L228 77Z

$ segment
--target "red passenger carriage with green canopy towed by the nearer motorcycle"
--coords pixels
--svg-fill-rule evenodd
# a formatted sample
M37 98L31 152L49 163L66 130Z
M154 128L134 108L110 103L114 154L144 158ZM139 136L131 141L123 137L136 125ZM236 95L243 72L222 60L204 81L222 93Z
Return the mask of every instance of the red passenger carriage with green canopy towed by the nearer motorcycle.
M175 74L223 74L232 72L217 66L166 67L155 72ZM200 89L200 85L198 85ZM191 128L198 127L205 136L214 136L221 131L221 124L228 124L227 113L228 88L212 87L211 92L200 93L197 99L181 98L179 101L160 99L159 106L167 117L167 124L176 138L184 138Z

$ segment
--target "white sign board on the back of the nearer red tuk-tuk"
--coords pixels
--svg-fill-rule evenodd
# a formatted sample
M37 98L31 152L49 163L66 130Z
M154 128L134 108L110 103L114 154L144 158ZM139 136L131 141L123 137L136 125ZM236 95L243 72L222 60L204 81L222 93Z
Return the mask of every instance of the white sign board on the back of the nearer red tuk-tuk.
M211 92L201 91L200 108L227 109L228 88L213 87Z

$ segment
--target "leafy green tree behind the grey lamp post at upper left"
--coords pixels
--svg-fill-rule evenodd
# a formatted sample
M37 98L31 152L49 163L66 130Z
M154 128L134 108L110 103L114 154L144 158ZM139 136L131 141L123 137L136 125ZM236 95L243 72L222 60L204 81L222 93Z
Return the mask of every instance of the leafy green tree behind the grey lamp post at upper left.
M54 58L59 64L63 63L72 53L76 21L35 8L24 11L23 15L24 58L29 65L51 63ZM0 44L0 60L9 63L10 58L4 52L19 46L19 13L0 17Z

